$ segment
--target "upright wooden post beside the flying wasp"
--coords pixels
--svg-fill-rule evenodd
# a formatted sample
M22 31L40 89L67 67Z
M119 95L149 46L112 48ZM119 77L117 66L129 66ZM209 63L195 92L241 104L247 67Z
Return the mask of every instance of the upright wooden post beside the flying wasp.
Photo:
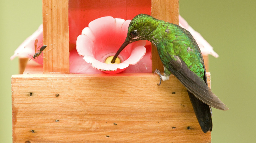
M68 0L43 0L44 73L69 73Z

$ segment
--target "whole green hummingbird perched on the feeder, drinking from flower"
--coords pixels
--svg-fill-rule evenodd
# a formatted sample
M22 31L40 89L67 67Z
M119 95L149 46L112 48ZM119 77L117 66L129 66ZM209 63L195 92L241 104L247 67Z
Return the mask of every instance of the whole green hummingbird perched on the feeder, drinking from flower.
M176 76L187 88L202 131L212 131L211 107L220 110L228 110L228 107L208 87L203 56L190 32L176 24L139 14L130 22L127 37L111 62L115 62L129 43L138 40L148 40L157 47L164 66L163 75L158 69L154 72L160 76L158 85L171 74Z

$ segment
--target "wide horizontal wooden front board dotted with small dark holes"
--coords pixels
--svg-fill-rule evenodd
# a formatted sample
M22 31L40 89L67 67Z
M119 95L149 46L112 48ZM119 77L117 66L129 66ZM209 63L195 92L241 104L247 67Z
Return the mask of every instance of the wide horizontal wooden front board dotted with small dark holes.
M158 82L152 73L13 75L13 142L211 142L185 87Z

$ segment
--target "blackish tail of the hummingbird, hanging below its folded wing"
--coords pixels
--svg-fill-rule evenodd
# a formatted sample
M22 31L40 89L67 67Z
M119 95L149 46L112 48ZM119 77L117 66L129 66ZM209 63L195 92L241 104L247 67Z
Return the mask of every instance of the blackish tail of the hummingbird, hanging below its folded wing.
M199 99L197 99L192 93L188 92L188 96L194 108L198 123L204 133L212 131L212 117L211 107Z

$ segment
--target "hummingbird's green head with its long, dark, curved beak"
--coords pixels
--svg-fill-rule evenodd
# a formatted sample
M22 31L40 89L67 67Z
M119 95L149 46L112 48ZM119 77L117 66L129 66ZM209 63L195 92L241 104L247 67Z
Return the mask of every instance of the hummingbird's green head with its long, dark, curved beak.
M150 40L152 32L157 28L159 20L147 14L136 15L129 24L128 33L122 46L118 49L111 63L114 63L120 52L130 43L139 40Z

